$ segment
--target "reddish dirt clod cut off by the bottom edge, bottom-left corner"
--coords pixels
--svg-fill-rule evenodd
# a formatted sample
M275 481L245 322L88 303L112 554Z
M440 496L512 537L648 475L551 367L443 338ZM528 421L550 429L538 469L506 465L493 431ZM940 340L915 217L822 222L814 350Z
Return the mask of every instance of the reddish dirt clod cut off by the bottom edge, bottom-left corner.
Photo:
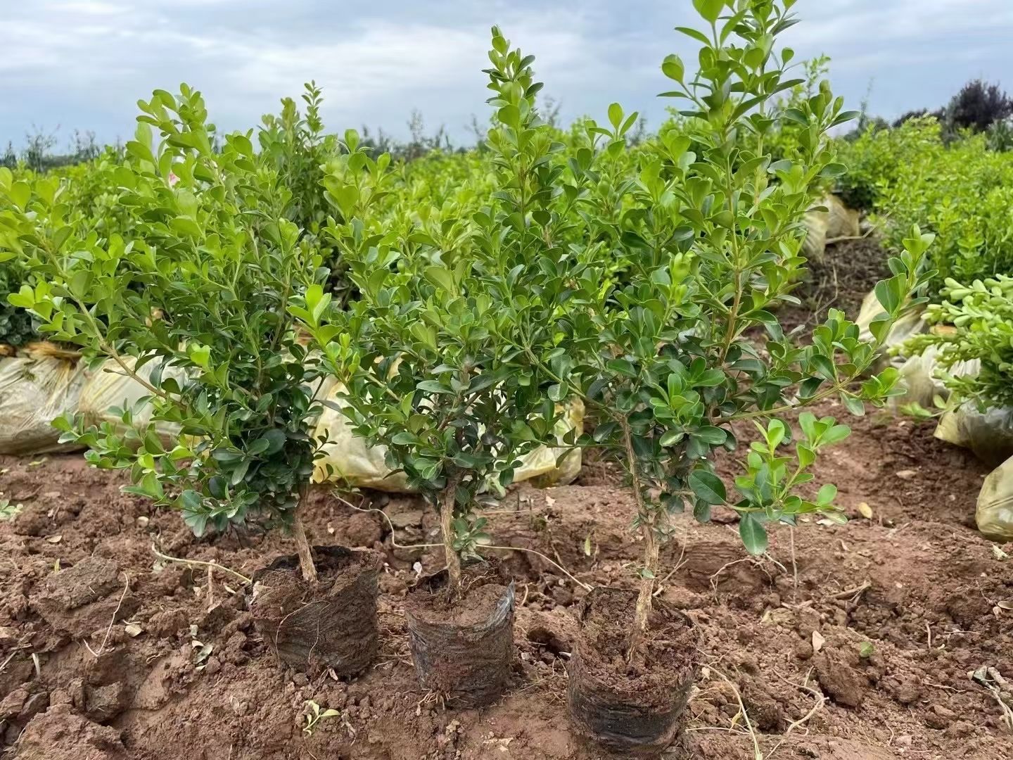
M18 760L127 760L120 733L55 705L36 715L14 745Z

